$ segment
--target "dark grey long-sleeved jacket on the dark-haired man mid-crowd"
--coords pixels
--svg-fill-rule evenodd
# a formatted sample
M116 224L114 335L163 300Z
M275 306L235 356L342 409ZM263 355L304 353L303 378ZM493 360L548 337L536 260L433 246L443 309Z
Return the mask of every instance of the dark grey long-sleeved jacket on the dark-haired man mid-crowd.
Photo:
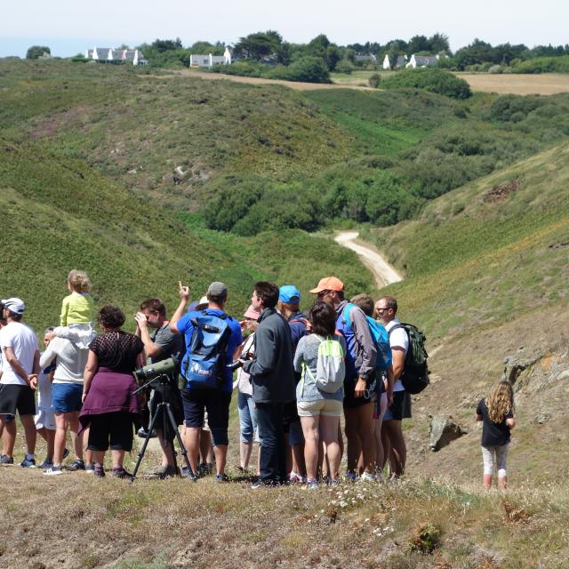
M255 332L255 355L243 365L252 379L255 403L294 400L291 328L275 309L264 309Z

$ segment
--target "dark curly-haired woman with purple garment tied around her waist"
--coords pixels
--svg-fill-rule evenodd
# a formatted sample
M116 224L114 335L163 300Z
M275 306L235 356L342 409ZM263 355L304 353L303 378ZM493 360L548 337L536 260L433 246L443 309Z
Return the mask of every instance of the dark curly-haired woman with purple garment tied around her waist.
M103 333L89 346L79 421L84 429L91 427L87 448L93 453L95 476L105 476L103 461L110 443L113 476L130 477L123 467L124 453L132 450L132 421L140 413L132 372L144 365L144 344L120 329L121 309L105 306L98 320Z

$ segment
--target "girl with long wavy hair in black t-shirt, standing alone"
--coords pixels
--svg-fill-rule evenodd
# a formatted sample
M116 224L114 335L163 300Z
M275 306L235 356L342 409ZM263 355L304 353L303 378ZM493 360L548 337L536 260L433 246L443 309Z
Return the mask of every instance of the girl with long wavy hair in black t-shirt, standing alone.
M481 444L485 490L492 486L494 469L498 469L498 487L506 490L509 431L516 426L514 390L509 381L501 381L488 397L480 400L477 406L477 421L483 421Z

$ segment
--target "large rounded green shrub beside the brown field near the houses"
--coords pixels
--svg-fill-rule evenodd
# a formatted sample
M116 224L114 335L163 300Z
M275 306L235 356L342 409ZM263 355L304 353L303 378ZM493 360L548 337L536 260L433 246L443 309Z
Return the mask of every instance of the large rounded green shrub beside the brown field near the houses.
M384 89L424 89L453 99L468 99L472 92L460 77L438 68L404 69L383 80Z

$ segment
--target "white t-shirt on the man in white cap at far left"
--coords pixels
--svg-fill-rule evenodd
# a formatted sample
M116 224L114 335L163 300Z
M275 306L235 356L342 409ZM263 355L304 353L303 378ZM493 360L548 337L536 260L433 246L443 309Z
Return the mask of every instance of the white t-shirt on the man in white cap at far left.
M21 322L10 322L0 330L0 348L12 348L14 356L20 362L26 373L34 370L34 355L37 350L37 338L34 331ZM28 385L18 373L12 370L12 365L2 357L2 378L0 383L4 385Z

